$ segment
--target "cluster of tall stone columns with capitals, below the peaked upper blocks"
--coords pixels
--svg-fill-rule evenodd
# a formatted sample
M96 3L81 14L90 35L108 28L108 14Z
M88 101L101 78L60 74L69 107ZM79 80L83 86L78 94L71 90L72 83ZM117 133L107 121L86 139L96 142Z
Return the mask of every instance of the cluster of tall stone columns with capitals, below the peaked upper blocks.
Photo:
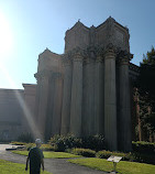
M110 150L131 150L130 53L110 44L93 54L74 50L62 61L63 74L36 74L37 121L45 138L103 134Z

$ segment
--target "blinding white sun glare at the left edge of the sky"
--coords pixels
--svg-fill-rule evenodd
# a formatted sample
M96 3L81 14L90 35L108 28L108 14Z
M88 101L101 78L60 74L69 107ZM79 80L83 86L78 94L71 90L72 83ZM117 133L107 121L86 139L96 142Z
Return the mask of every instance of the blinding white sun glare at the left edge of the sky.
M13 39L9 21L0 13L0 56L8 55L12 48Z

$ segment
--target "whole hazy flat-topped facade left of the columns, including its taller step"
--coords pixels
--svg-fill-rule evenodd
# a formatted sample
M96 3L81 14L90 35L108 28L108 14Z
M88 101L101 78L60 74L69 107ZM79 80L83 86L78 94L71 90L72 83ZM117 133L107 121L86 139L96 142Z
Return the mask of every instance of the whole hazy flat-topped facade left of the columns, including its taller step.
M15 141L22 133L32 133L30 117L35 116L36 85L24 89L0 89L0 142Z

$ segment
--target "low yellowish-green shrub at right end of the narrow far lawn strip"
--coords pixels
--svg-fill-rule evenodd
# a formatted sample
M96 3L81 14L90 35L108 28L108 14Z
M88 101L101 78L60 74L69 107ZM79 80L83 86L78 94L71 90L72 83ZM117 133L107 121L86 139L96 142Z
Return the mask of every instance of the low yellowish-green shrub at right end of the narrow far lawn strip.
M86 157L95 157L96 156L96 151L92 151L90 149L73 149L71 153L76 154L76 155L82 155Z

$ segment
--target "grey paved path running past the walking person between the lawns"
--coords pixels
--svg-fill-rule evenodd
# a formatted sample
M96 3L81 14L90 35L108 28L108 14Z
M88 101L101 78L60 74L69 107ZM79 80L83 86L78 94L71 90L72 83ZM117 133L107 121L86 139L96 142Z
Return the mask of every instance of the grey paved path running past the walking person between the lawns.
M12 145L0 144L0 159L25 164L26 156L5 151L5 148ZM13 145L14 146L14 145ZM45 170L53 174L107 174L106 172L91 170L86 166L79 166L67 162L66 159L44 159Z

